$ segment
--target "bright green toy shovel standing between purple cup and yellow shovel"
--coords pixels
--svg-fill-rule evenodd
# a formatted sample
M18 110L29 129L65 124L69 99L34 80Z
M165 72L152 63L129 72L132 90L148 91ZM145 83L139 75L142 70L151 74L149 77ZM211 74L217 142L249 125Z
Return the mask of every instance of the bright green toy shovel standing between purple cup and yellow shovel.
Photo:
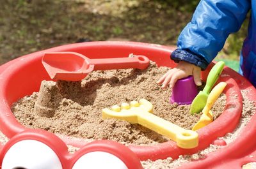
M205 84L203 91L200 91L191 103L191 108L189 110L190 114L195 114L195 113L198 114L199 112L201 112L203 110L203 108L206 105L206 101L209 96L209 93L211 92L213 85L216 83L216 81L220 77L220 74L221 74L224 66L225 66L225 62L220 61L220 62L217 62L212 67L212 69L207 77L206 84Z

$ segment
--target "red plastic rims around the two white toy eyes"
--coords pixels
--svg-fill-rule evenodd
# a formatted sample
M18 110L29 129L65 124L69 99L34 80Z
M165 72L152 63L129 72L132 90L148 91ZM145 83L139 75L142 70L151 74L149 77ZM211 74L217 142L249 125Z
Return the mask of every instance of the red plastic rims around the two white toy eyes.
M52 151L56 153L61 161L61 165L65 169L72 168L77 159L81 158L81 156L84 154L93 151L103 151L113 154L117 158L121 159L129 169L142 169L140 160L136 154L134 154L134 152L132 152L128 147L125 147L125 145L118 142L110 140L97 140L86 144L74 154L70 154L68 152L67 145L60 138L58 138L58 136L41 129L26 129L13 136L3 147L1 147L0 168L6 152L12 147L12 145L22 140L36 140L49 146Z

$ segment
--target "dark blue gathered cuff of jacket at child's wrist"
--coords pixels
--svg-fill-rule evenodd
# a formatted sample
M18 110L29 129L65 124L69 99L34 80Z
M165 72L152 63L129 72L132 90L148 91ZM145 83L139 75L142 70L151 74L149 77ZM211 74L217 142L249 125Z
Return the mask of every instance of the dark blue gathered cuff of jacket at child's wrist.
M182 50L180 48L177 48L172 52L171 59L174 62L189 62L191 64L194 64L195 66L200 67L202 70L205 70L209 64L207 61L205 61L204 57L193 54L192 52L187 50Z

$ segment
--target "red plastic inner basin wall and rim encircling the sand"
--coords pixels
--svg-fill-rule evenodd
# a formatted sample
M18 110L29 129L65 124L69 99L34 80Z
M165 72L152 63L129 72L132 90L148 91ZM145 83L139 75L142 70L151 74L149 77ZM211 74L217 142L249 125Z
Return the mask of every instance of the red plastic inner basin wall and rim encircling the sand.
M86 55L89 58L127 57L127 55L132 53L135 55L146 55L159 66L173 67L175 63L170 61L170 54L173 49L172 47L148 43L96 41L54 47L24 55L7 62L0 66L0 130L4 135L8 136L8 138L12 138L15 134L26 129L15 119L10 107L12 103L18 99L38 91L42 80L50 80L41 61L45 52L71 51ZM203 80L206 79L213 65L214 63L212 63L206 71L202 72ZM227 87L224 91L227 95L227 105L224 112L216 121L198 130L198 147L194 149L181 149L177 147L175 142L170 141L156 145L132 145L129 148L135 152L141 160L156 160L167 157L175 159L182 154L193 154L199 150L205 149L205 147L208 147L218 136L223 136L233 131L239 122L243 106L240 89L252 87L252 85L230 68L226 67L222 74L219 81L227 82ZM239 80L241 84L237 85L236 80ZM234 95L236 95L236 97L234 97ZM254 93L253 99L255 95ZM74 145L76 147L82 147L86 144L86 142L81 139L70 138L68 136L61 136L61 139L68 145Z

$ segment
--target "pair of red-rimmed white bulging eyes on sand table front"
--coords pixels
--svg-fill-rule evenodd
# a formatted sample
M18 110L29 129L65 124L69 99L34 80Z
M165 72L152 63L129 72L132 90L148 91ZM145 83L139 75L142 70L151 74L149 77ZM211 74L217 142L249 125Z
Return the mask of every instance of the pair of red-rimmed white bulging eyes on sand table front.
M118 142L97 140L70 154L60 138L39 129L13 136L1 149L0 164L1 169L142 169L136 154Z

